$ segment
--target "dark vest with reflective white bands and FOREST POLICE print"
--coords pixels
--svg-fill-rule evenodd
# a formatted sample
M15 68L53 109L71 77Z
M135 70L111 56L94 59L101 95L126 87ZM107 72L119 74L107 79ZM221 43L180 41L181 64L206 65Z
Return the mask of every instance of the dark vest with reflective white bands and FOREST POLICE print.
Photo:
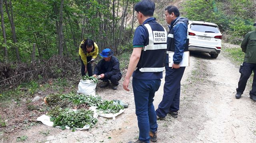
M167 48L166 29L156 22L148 22L142 26L148 31L148 41L142 48L137 69L140 72L162 72Z

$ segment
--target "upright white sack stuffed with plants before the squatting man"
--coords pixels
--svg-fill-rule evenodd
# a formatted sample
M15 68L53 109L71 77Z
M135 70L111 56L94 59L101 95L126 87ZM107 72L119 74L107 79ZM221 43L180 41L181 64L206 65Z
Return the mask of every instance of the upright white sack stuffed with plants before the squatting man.
M78 84L78 94L96 96L96 83L92 80L80 80Z

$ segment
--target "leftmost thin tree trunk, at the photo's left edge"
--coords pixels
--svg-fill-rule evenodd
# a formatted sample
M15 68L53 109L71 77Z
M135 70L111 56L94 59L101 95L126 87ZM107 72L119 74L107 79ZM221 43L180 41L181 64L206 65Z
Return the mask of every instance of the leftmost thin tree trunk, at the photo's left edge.
M3 31L3 38L4 38L4 61L8 61L8 53L7 53L7 45L6 45L6 31L4 26L4 11L3 11L3 0L0 0L0 13L1 13L1 26Z

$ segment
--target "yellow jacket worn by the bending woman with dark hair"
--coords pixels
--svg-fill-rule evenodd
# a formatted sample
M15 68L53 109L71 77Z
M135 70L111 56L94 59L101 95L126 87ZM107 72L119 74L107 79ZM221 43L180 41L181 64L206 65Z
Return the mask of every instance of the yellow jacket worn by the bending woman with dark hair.
M81 44L84 43L84 40L81 42ZM99 51L99 48L98 48L98 45L96 43L94 43L94 51L93 52L90 52L90 53L84 53L83 49L81 48L81 44L80 44L80 48L79 48L79 52L78 54L81 56L81 59L82 61L84 62L84 65L87 65L87 59L86 57L90 57L92 56L92 59L96 59L97 55L98 55L98 51Z

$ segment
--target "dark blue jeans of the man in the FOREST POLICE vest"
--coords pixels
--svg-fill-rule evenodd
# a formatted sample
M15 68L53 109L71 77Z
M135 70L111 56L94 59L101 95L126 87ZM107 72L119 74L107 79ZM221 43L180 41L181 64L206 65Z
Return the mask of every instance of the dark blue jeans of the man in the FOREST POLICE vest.
M140 131L139 140L150 143L149 131L157 130L156 112L153 105L155 92L161 84L160 79L142 80L132 78L135 109Z

